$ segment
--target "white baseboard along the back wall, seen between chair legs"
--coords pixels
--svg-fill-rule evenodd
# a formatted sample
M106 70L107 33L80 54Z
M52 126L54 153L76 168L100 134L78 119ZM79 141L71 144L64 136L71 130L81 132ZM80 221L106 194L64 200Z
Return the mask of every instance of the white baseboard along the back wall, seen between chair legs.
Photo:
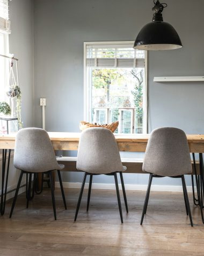
M60 183L55 182L56 188L60 188ZM63 182L64 188L70 189L79 189L81 188L82 183L79 182ZM85 183L85 189L89 188L89 183ZM140 184L125 184L126 190L142 190L147 191L147 185ZM107 183L92 183L92 189L111 189L115 190L115 184L107 184ZM121 190L121 184L119 184L119 189ZM169 192L183 192L182 186L170 186L170 185L151 185L151 191L169 191ZM192 192L192 186L187 186L187 191ZM195 187L196 191L196 187Z

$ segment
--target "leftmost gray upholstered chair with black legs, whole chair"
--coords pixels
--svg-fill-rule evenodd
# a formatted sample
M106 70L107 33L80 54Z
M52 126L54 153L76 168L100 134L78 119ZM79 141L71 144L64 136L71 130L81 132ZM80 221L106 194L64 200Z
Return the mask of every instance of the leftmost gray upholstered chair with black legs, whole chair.
M52 192L54 217L56 219L56 207L55 207L52 171L57 170L64 207L65 209L67 209L63 186L62 186L62 179L60 175L60 170L64 168L64 165L57 163L52 143L49 139L48 133L45 130L40 128L25 128L25 129L19 130L19 132L16 135L13 164L14 164L14 167L16 167L17 169L20 169L21 172L20 172L16 193L13 198L10 218L12 216L12 212L16 204L18 190L20 188L20 182L24 173L25 174L33 174L33 173L36 174L39 172L48 173L49 179L50 179L50 188ZM28 185L28 190L31 189L30 183ZM28 191L28 193L30 193L30 191ZM29 198L27 196L27 207L28 207L28 200Z

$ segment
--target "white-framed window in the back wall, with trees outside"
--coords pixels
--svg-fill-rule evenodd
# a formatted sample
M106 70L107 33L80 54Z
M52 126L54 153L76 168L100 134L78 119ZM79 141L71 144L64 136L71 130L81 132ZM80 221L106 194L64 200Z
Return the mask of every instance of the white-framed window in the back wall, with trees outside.
M84 119L147 133L147 52L134 42L84 43Z

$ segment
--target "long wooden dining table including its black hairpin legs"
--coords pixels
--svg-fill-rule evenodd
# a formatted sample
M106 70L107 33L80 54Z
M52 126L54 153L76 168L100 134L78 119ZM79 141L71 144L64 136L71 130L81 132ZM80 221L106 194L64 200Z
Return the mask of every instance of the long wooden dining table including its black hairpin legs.
M65 132L48 132L50 140L53 144L54 150L77 150L81 133L65 133ZM118 148L120 151L129 152L145 152L149 134L114 134ZM204 153L204 135L194 134L186 135L190 153L199 153L199 176L196 176L196 185L198 192L198 202L201 208L202 220L203 218L203 198L204 198L204 175L203 175L203 158ZM4 214L6 190L8 184L8 172L11 150L14 149L16 140L15 134L0 135L0 149L2 149L3 161L2 161L2 191L5 193L1 195L1 215ZM32 145L31 145L32 146ZM7 153L8 156L7 156ZM6 168L7 161L7 168ZM197 182L198 179L198 182Z

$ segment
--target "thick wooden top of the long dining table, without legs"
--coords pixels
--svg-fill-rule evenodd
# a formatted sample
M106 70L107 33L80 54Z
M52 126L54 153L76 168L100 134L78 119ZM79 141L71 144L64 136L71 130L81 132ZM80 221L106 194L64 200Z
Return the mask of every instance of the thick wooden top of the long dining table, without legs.
M81 133L48 132L55 150L77 150ZM149 134L114 134L120 151L144 152ZM191 152L204 153L204 135L186 135ZM0 149L14 149L15 134L0 135Z

